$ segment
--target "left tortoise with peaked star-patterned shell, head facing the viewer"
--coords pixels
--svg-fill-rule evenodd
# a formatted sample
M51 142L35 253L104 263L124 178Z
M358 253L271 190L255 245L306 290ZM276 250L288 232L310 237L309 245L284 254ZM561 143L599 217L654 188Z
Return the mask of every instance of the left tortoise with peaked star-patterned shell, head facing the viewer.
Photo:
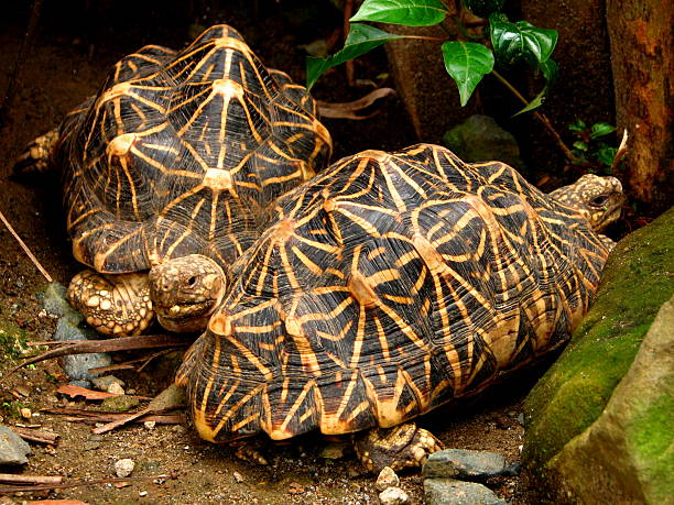
M168 330L203 329L265 207L330 153L306 89L216 25L183 51L119 61L20 165L63 168L73 253L93 268L68 298L98 331L132 336L154 314Z

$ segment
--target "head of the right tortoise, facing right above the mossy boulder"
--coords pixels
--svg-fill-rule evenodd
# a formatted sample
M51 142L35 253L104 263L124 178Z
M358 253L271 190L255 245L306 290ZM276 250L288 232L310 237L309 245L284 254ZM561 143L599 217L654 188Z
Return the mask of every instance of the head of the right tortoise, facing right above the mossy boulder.
M575 184L555 189L550 196L576 209L597 232L618 220L626 200L620 180L594 174L586 174Z

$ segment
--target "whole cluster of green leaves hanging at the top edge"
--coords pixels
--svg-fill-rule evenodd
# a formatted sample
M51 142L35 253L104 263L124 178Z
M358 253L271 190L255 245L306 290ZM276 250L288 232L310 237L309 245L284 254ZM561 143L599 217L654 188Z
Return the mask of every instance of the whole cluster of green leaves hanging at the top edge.
M389 41L428 39L389 33L363 22L405 26L439 24L446 29L447 19L452 18L464 39L470 39L447 40L441 46L445 69L458 87L461 106L468 102L483 76L494 72L494 65L509 67L523 62L543 75L545 86L519 113L540 107L557 75L557 65L551 58L557 32L536 28L526 21L511 22L502 12L506 0L463 0L463 3L476 15L488 20L481 36L468 35L460 19L454 17L441 0L365 0L350 19L344 48L325 58L307 59L307 88L311 89L328 69Z

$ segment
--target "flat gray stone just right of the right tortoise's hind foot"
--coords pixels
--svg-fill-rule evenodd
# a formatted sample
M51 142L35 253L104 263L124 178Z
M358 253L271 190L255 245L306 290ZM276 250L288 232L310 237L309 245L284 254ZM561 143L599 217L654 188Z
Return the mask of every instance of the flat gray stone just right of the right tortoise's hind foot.
M511 475L506 458L494 452L445 449L434 452L424 464L424 477L449 477L485 481L497 475Z

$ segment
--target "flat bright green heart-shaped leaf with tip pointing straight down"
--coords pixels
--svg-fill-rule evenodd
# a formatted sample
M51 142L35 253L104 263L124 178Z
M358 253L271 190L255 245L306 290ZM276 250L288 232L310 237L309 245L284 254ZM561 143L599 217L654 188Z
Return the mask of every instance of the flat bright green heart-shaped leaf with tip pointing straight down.
M445 42L441 48L445 68L459 88L464 107L482 76L493 69L493 54L475 42Z

